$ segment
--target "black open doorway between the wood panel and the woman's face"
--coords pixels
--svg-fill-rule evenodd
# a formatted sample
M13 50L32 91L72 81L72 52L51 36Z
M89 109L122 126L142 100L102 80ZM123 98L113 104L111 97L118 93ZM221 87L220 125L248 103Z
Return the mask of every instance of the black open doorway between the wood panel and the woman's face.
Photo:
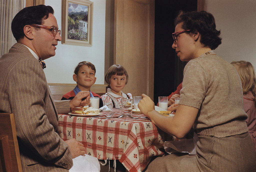
M179 10L197 10L197 0L155 1L155 104L158 96L170 95L183 79L186 62L180 61L172 48L174 19Z

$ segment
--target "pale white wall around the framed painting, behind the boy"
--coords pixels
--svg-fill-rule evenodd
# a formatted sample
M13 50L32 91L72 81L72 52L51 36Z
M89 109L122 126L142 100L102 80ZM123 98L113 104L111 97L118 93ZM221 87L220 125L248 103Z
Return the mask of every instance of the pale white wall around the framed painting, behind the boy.
M56 55L45 60L44 69L48 83L76 83L73 73L81 61L90 61L95 65L97 80L95 84L104 84L105 61L105 0L93 0L92 47L61 44L56 46ZM61 0L45 0L45 5L54 9L54 16L61 29ZM62 30L61 30L62 31Z

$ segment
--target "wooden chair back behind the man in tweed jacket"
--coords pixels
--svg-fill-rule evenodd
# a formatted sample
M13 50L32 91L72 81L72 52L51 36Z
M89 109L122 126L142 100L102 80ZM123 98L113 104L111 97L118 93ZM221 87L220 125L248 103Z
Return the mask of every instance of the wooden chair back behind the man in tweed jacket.
M0 171L22 172L13 113L0 113Z

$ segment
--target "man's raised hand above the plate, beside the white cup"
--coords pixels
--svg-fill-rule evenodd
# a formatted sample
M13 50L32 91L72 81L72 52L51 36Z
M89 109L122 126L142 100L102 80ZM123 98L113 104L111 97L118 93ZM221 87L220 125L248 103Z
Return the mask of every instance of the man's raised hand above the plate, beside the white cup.
M86 98L82 100L83 98ZM72 107L83 107L90 104L90 92L89 91L80 91L77 95L70 100L70 108Z

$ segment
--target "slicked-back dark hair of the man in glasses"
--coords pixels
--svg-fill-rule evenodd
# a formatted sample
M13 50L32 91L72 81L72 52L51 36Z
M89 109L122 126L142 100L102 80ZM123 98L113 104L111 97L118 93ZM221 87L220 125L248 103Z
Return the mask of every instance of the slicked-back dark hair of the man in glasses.
M43 19L47 19L49 13L54 14L54 10L51 6L45 5L30 6L20 10L12 21L12 32L16 41L24 38L24 26L31 24L42 25Z

